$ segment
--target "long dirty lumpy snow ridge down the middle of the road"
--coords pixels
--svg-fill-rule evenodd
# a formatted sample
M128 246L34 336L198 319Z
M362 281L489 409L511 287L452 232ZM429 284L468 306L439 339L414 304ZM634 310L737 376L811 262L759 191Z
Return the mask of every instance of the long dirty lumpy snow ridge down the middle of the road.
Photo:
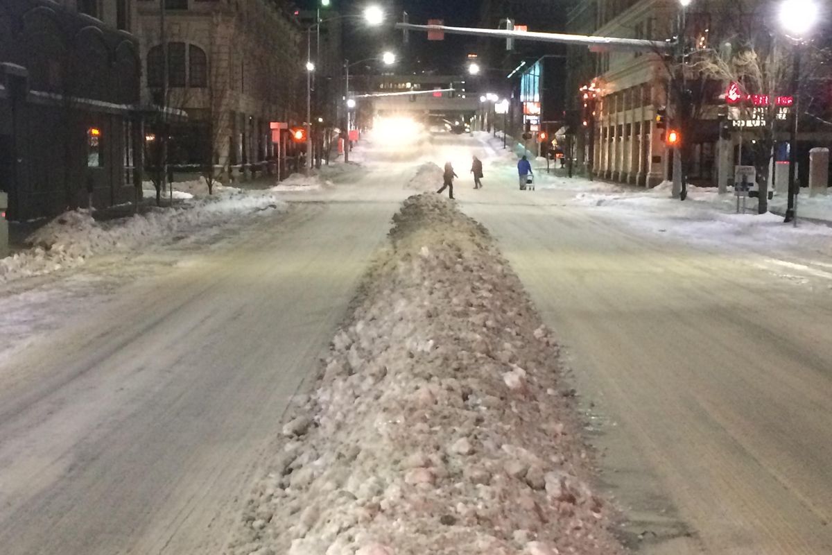
M557 345L487 232L432 193L394 222L229 553L622 553Z

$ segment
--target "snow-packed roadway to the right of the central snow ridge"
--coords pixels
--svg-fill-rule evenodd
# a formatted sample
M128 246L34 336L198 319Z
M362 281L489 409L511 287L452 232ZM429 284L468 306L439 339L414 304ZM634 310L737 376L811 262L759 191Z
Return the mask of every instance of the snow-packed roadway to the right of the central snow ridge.
M633 543L832 553L830 260L648 235L494 181L463 208L571 351Z

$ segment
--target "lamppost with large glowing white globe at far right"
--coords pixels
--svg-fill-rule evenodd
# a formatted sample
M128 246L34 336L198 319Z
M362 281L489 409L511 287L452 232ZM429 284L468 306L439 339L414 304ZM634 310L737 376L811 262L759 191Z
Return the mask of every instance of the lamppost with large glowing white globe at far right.
M792 125L789 136L789 198L785 209L785 222L794 221L797 225L797 194L795 180L797 171L797 126L800 122L800 55L802 45L812 32L820 16L815 0L783 0L780 2L780 27L787 37L795 42L794 58L791 68L791 94L795 104L791 107Z

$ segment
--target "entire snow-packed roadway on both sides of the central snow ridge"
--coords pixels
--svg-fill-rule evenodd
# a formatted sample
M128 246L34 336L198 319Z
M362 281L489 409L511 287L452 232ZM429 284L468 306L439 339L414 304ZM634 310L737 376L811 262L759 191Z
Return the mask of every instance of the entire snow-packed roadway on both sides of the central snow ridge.
M472 150L483 191L466 179ZM413 192L414 161L393 154L352 185L287 193L287 215L195 247L0 360L2 553L220 552ZM473 138L426 154L456 162L460 206L567 345L632 543L832 553L832 260L647 230L557 187L516 191Z

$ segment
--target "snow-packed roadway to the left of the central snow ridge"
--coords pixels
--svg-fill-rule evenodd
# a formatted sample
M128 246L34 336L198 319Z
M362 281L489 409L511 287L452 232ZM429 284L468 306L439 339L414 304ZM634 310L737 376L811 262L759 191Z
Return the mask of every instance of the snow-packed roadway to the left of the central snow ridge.
M0 365L0 551L220 553L405 196L362 192L378 182L186 255Z

